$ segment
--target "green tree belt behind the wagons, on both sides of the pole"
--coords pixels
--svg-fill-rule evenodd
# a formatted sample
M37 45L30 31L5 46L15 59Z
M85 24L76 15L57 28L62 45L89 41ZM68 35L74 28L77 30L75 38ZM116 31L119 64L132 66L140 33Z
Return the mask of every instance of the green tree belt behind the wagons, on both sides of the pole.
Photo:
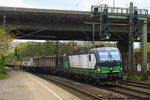
M24 42L17 44L17 53L20 59L25 57L53 56L56 55L56 41ZM58 54L63 55L78 47L77 42L58 42Z

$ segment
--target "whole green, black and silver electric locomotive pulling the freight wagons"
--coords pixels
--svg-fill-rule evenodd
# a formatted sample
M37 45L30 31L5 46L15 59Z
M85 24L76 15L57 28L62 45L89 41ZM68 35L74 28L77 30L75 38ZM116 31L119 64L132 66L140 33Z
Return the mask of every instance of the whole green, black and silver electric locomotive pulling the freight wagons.
M113 47L93 48L87 54L64 55L64 68L76 78L98 83L117 83L124 77L120 51Z

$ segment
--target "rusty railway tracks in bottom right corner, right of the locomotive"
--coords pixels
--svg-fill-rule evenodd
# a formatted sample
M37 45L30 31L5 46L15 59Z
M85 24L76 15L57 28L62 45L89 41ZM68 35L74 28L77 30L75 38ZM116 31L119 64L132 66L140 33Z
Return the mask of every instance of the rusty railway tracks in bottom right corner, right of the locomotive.
M128 95L142 100L150 100L150 90L144 85L120 82L117 86L110 87L109 90ZM132 98L132 99L133 99Z

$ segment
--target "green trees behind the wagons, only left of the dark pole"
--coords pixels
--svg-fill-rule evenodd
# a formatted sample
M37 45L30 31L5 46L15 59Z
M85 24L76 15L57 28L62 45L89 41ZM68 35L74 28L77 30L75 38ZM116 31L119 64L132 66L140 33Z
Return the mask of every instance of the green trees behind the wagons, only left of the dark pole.
M35 56L48 56L54 54L54 43L37 43L26 42L17 45L18 55L20 58L35 57Z

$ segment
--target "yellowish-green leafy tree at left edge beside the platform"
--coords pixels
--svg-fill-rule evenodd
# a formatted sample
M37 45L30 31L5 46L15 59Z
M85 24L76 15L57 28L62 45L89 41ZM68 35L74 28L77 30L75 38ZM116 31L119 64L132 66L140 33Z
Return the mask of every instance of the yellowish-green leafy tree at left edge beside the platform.
M12 40L15 38L11 30L0 26L0 73L4 72L5 58L12 47Z

